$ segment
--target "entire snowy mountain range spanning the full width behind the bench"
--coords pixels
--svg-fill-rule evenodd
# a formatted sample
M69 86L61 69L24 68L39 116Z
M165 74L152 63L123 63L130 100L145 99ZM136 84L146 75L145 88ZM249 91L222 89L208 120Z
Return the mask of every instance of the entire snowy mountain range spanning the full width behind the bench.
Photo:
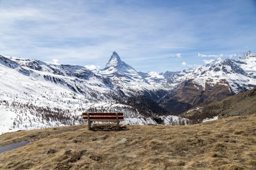
M106 67L53 65L0 55L0 127L81 123L83 111L123 111L126 123L186 124L174 117L256 85L256 54L183 71L141 72L113 52ZM160 120L161 119L161 120Z

